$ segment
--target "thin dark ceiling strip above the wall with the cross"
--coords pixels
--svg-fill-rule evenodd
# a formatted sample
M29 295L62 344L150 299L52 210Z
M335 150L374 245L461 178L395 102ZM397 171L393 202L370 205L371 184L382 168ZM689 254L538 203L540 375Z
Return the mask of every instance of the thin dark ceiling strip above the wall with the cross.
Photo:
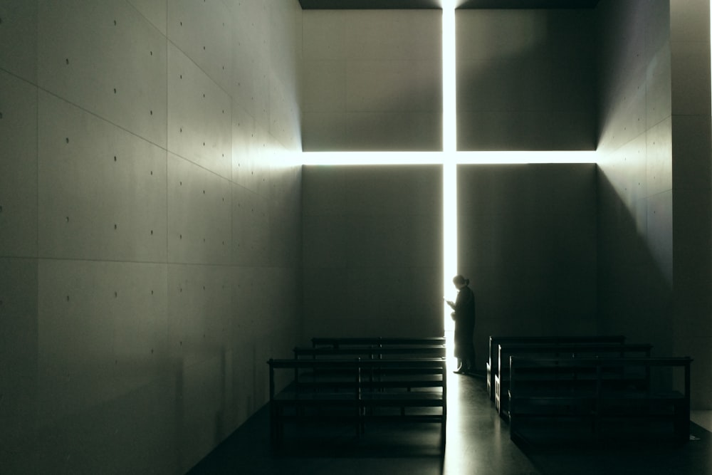
M592 9L599 0L455 0L460 9ZM442 0L299 0L305 10L441 9Z

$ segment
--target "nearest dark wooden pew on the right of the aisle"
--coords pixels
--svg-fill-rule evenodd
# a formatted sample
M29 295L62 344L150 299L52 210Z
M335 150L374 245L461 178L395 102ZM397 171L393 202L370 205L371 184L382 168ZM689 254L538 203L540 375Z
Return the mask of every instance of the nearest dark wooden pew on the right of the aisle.
M690 357L512 356L511 437L539 442L549 437L558 438L557 442L672 437L685 442L689 440L691 362ZM666 373L651 377L654 370ZM671 382L661 383L673 380L673 370L684 372L677 380L682 392L671 390ZM542 372L557 377L542 382Z

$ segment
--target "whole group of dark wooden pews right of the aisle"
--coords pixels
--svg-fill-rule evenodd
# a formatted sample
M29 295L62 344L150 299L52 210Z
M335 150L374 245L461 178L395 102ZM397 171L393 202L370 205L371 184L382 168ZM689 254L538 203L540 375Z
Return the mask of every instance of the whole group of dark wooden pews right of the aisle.
M634 436L650 434L656 423L684 441L692 360L651 350L617 335L491 337L487 390L513 439L536 424L553 434L560 422L575 422L568 427L595 438L630 427ZM673 380L676 370L684 375Z

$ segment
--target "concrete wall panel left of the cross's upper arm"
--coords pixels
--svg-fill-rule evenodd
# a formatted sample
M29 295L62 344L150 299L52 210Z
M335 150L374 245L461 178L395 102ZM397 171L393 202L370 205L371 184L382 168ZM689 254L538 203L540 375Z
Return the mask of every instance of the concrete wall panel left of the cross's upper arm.
M304 150L441 150L441 32L439 10L304 11Z

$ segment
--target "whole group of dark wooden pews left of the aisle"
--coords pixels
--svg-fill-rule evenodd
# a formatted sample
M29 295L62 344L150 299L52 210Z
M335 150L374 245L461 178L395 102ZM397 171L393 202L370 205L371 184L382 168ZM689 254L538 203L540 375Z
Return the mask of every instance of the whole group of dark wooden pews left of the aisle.
M295 348L292 359L268 361L273 444L282 442L288 423L350 424L361 437L373 422L431 422L441 425L444 450L444 345L391 339L374 348L372 340L348 340L346 345Z

